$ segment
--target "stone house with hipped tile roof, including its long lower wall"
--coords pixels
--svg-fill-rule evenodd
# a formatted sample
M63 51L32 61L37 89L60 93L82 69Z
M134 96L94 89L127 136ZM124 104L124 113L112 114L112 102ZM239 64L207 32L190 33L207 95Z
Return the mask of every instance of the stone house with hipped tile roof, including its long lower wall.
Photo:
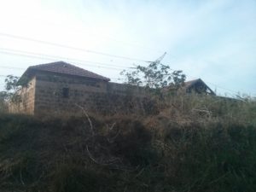
M109 82L110 79L63 61L28 67L20 80L20 102L9 105L11 113L32 115L81 114L143 109L143 89ZM132 90L132 91L131 91ZM136 100L131 94L136 94ZM138 102L138 98L144 98ZM136 102L135 102L136 101ZM131 102L132 103L131 105ZM130 103L130 104L129 104ZM139 105L144 106L139 106ZM132 106L132 107L131 107Z

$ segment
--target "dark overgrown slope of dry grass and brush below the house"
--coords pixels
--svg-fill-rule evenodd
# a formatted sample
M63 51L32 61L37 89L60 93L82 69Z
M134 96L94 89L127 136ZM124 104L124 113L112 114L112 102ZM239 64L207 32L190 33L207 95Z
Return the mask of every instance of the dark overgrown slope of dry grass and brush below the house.
M0 191L256 191L255 102L179 97L154 116L1 114Z

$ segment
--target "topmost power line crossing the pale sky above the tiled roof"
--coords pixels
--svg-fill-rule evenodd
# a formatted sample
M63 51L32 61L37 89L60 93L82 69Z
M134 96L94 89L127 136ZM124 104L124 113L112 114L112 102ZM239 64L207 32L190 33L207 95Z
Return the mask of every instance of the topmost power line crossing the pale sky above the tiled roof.
M77 47L73 47L73 46L68 46L68 45L65 45L65 44L56 44L56 43L51 43L49 41L38 40L38 39L35 39L35 38L27 38L27 37L17 36L17 35L3 33L3 32L0 32L0 35L1 36L6 36L6 37L9 37L9 38L17 38L17 39L22 39L22 40L26 40L26 41L32 41L32 42L36 42L36 43L39 43L39 44L48 44L48 45L51 45L51 46L56 46L56 47L61 47L61 48L66 48L66 49L79 50L79 51L87 52L87 53L90 53L90 54L116 57L116 58L119 58L119 59L125 59L125 60L130 60L130 61L150 62L150 61L145 61L145 60L142 60L142 59L132 58L132 57L128 57L128 56L112 55L112 54L103 53L103 52L96 51L96 50L82 49L82 48L77 48Z

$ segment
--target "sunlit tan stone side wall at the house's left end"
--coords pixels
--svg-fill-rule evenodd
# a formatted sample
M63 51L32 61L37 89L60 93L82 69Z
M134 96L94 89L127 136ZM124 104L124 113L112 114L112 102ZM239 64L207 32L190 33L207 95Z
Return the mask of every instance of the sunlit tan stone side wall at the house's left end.
M28 82L26 87L23 87L19 91L19 96L16 101L9 102L10 113L34 113L34 101L35 101L35 84L36 79L33 78Z

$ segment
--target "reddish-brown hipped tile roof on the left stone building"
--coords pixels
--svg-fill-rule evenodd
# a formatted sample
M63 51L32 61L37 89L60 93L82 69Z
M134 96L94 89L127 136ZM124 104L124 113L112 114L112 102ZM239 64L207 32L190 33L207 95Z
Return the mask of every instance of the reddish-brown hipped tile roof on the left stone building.
M29 73L30 71L34 71L34 70L74 75L74 76L90 78L90 79L100 79L103 81L110 81L110 79L105 78L102 75L92 73L90 71L87 71L80 67L73 66L64 61L51 62L51 63L47 63L47 64L40 64L40 65L28 67L25 73Z

